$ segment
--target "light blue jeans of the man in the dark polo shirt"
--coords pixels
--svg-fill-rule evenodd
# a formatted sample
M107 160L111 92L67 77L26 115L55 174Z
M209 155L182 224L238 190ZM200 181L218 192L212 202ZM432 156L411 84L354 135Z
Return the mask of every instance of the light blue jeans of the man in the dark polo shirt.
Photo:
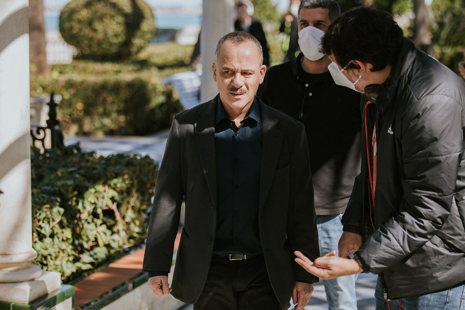
M342 235L342 214L318 215L318 241L320 255L331 251L338 255L338 242ZM357 296L355 295L355 280L358 275L323 280L329 310L356 310Z

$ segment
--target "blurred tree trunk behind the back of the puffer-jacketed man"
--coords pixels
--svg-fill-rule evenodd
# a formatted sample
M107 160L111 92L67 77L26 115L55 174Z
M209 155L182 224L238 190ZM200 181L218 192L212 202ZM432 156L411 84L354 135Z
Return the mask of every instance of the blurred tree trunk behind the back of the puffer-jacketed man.
M431 34L425 0L413 0L413 10L415 12L415 20L413 21L412 40L417 48L423 52L427 52L431 45Z

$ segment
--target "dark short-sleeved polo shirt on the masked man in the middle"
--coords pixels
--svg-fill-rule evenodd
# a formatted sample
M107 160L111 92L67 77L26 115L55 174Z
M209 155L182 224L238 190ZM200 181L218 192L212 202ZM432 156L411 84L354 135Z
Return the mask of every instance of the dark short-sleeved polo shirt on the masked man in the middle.
M329 72L306 73L302 57L268 69L257 96L305 125L316 214L339 214L360 173L361 94L336 85Z

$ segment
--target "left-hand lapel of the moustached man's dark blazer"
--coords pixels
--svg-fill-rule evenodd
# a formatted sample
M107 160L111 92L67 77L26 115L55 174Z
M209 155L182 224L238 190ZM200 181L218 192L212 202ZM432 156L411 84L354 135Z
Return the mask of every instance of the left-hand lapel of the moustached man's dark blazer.
M194 123L195 138L199 149L200 162L213 203L216 207L216 152L215 152L215 106L217 95L199 112L200 119Z

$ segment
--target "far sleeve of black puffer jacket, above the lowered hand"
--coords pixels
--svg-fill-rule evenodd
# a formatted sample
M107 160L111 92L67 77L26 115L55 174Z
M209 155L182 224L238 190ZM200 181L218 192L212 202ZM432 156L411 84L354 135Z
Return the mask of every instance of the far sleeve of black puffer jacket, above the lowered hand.
M360 174L353 182L352 194L349 203L345 208L341 223L342 230L353 232L359 235L363 234L363 204L362 204L362 185L360 183Z

